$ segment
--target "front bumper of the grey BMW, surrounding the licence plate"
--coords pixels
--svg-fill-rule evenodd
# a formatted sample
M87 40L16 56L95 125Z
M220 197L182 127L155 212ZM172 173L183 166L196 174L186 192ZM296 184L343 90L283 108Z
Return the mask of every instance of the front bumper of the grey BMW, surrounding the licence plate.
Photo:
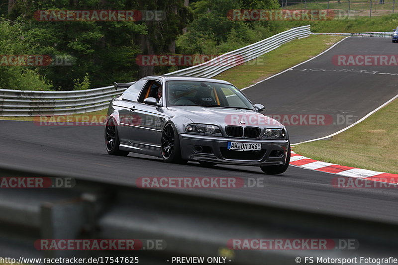
M289 140L241 139L195 134L179 134L181 156L185 160L212 162L240 166L271 166L284 165L287 151L290 148ZM227 142L261 143L261 151L227 151ZM205 146L207 153L199 153L195 147ZM284 150L283 157L270 157L274 150ZM231 153L232 152L232 153ZM239 152L239 153L236 153Z

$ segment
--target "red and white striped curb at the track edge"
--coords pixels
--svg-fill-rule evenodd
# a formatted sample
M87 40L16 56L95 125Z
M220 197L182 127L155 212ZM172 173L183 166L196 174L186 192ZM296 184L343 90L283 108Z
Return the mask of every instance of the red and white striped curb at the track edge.
M322 171L332 174L341 175L344 177L356 177L372 181L380 181L398 184L398 174L391 174L373 170L364 170L347 166L340 166L337 164L326 163L322 161L313 160L295 152L291 151L290 165L297 166L304 169Z

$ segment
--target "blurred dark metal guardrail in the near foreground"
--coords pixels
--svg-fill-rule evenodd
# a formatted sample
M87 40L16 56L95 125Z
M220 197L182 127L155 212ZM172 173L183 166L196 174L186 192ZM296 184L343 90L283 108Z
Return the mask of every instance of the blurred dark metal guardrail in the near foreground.
M0 177L20 176L51 175L0 166ZM118 251L117 256L138 256L141 263L142 256L149 255L148 259L161 262L142 264L168 264L166 260L171 257L228 255L236 265L264 265L264 261L296 264L296 257L389 257L397 253L398 247L398 223L382 218L361 220L82 178L76 179L73 188L3 189L0 211L0 248L1 242L13 242L14 252L18 253L24 248L34 250L38 239L159 239L164 241L163 250ZM227 247L230 239L250 238L356 239L359 248L261 251ZM112 256L87 251L39 251L39 254L44 258Z

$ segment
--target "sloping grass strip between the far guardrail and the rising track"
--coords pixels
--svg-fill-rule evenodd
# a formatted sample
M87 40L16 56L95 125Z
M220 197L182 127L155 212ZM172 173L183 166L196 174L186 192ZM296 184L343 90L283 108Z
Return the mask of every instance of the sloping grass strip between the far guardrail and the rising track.
M214 78L231 82L237 88L245 88L308 60L342 38L340 36L311 35L307 38L293 40L245 65L222 72Z

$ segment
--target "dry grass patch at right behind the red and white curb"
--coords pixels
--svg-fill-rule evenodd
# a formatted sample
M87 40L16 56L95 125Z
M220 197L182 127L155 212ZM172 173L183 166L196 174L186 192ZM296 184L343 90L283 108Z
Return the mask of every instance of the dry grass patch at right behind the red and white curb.
M398 100L333 136L297 145L295 152L329 163L398 174Z

